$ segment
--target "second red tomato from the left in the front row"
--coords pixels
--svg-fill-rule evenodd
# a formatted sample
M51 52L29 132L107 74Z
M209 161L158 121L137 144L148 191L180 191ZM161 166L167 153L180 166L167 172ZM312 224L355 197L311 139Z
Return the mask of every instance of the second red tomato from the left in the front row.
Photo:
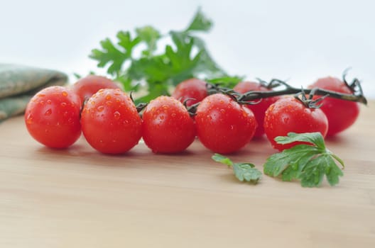
M138 144L142 120L131 98L120 89L101 89L85 104L82 132L99 152L121 154Z

